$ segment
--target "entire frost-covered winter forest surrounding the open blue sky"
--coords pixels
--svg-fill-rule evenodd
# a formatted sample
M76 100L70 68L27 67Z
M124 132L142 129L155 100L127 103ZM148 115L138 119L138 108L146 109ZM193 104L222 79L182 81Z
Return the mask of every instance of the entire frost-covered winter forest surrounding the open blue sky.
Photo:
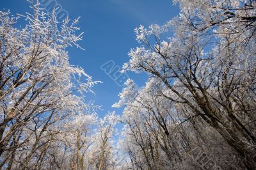
M104 82L70 64L86 29L42 2L0 9L1 169L256 169L255 0L173 0L176 17L134 27L120 73L147 81L104 116Z

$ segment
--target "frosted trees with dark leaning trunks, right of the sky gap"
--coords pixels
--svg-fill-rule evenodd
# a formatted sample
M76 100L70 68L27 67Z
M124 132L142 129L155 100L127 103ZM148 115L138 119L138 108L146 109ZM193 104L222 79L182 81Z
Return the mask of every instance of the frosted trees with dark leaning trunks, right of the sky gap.
M129 116L124 119L128 118L125 126L129 128L124 129L125 134L133 133L130 142L140 139L139 143L146 148L151 147L145 142L154 138L156 126L157 130L165 130L166 135L175 134L167 140L156 137L160 141L157 144L172 143L166 151L171 158L177 156L174 162L171 160L173 168L180 162L186 163L186 157L179 159L179 155L189 158L191 148L202 146L204 152L217 158L223 169L232 169L232 165L255 169L256 3L174 2L180 6L179 17L164 26L135 29L141 47L129 52L131 59L124 65L124 71L146 72L150 78L138 93L128 81L131 86L124 88L120 102L115 105L127 106L124 116L127 113ZM169 31L173 31L172 36ZM148 87L148 84L152 85ZM193 135L189 135L189 131ZM147 137L140 134L147 134L150 139L141 140ZM150 144L157 146L152 141ZM156 169L154 166L158 163L150 162L150 151L152 153L152 149L147 149L148 153L144 151L142 164Z

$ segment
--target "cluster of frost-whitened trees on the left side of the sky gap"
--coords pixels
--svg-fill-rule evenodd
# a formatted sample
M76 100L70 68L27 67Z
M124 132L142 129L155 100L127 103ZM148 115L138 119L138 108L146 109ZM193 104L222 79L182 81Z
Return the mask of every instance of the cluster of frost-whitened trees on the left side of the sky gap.
M60 168L61 154L54 150L63 147L56 142L62 126L72 115L90 117L84 94L97 84L68 62L66 48L79 47L83 35L77 35L79 20L58 24L54 12L45 13L39 4L32 9L18 17L0 12L0 166L6 169ZM17 27L19 18L25 26ZM93 121L73 119L76 164L82 165L86 126Z

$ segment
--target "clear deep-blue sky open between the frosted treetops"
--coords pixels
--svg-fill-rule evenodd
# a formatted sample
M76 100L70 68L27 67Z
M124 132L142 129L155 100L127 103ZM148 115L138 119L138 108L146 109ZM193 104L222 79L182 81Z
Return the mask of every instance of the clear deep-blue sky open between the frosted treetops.
M49 0L42 0L49 1ZM53 0L52 0L53 1ZM70 63L84 68L93 80L104 82L93 88L95 104L102 105L103 116L108 111L122 114L122 109L112 108L118 102L122 87L104 73L100 66L113 60L117 66L129 61L127 53L137 47L134 28L140 25L164 24L178 15L179 8L171 0L57 0L71 19L81 17L79 26L84 38L80 42L85 50L68 49ZM26 0L0 0L0 10L10 10L12 15L28 12ZM128 73L139 86L143 86L147 75Z

